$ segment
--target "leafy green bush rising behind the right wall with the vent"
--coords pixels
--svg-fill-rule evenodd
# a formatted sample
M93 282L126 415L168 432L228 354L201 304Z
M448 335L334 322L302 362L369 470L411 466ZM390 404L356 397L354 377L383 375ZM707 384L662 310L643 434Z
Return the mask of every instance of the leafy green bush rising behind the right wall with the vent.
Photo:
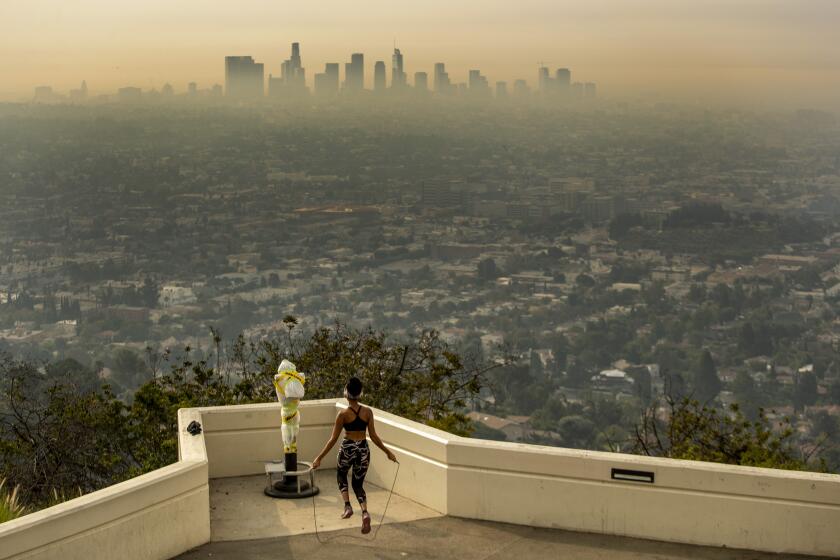
M738 405L727 413L688 398L667 399L663 417L662 405L655 402L644 411L635 429L634 453L777 469L808 466L793 446L789 420L774 430L763 411L752 422Z

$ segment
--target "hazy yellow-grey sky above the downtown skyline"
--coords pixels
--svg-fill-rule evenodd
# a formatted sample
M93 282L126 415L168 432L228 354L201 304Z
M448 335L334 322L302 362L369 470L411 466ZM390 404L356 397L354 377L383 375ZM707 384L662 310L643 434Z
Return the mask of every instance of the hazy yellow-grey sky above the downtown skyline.
M223 57L250 54L279 74L299 41L310 80L365 53L409 80L447 63L453 81L535 82L537 64L572 69L603 95L840 108L840 0L0 0L0 96L36 85L221 83ZM343 79L343 66L342 66Z

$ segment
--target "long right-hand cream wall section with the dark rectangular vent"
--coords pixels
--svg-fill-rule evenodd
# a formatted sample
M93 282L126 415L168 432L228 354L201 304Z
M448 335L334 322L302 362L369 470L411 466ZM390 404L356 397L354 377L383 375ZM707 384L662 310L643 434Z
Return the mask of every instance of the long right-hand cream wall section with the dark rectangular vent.
M769 552L840 555L840 476L458 439L447 513ZM653 472L653 484L611 479Z

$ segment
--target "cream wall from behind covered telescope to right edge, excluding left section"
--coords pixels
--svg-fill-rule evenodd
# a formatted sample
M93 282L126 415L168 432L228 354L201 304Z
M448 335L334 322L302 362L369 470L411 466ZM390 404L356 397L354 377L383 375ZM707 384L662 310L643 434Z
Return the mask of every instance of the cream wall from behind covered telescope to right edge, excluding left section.
M302 403L302 459L321 449L344 406ZM202 409L210 476L260 473L262 460L279 458L279 414L275 404ZM840 476L474 440L379 410L375 425L401 463L395 491L444 514L840 556ZM395 465L371 449L368 480L390 488ZM651 472L654 483L613 480L614 468Z

